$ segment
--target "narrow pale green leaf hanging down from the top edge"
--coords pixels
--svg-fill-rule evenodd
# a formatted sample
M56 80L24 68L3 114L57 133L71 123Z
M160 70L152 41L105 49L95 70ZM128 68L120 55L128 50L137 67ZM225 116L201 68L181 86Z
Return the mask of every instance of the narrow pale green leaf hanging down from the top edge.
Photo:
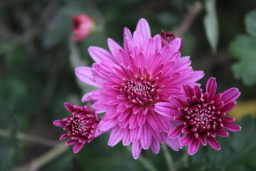
M218 37L219 37L218 17L216 14L215 4L216 4L215 0L206 1L206 4L205 4L206 16L203 19L203 24L206 30L206 37L214 53L217 52Z

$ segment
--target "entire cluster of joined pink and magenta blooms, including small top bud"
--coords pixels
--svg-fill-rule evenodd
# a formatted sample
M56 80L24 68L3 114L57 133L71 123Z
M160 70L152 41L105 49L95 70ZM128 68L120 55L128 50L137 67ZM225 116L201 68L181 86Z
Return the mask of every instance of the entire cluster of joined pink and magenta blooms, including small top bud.
M68 145L76 143L74 152L110 132L108 145L131 144L134 159L142 149L158 153L161 143L173 150L188 145L193 155L206 141L218 150L215 134L228 136L223 128L240 130L230 123L233 118L225 116L240 92L231 88L215 95L215 79L210 78L203 94L196 83L203 71L193 71L189 56L181 57L181 38L164 31L152 37L149 24L141 19L134 33L124 28L124 48L111 38L108 46L110 51L91 46L95 63L75 69L80 81L98 88L86 93L82 102L92 103L96 114L105 113L103 118L99 120L86 106L68 105L72 118L55 121L68 130L61 140L73 137Z

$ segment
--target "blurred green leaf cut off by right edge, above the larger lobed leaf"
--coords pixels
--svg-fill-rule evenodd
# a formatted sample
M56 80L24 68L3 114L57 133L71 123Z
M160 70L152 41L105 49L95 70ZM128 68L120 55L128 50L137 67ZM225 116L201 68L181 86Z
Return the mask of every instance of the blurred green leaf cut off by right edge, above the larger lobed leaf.
M245 17L245 28L247 33L256 38L256 10L250 11Z

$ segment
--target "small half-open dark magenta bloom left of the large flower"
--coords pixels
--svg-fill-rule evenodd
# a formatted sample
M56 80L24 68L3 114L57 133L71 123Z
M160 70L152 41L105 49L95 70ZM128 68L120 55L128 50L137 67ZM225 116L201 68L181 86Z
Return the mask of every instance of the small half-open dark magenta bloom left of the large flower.
M65 108L72 113L63 120L55 120L53 125L63 127L67 130L60 136L60 140L71 138L66 145L74 145L73 152L79 152L87 142L91 142L95 138L97 125L100 122L97 115L92 113L88 105L78 106L65 103Z

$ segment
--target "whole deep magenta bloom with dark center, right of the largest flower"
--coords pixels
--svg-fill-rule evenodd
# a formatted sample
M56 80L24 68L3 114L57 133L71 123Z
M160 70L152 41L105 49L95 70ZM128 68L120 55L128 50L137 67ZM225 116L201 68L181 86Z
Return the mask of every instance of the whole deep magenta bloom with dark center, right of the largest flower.
M195 154L200 144L206 145L207 142L213 149L220 150L220 144L215 140L216 134L228 137L226 130L235 132L241 129L239 125L231 123L235 118L226 116L235 107L235 100L240 96L238 88L230 88L215 95L217 83L215 78L209 78L204 94L199 86L192 88L184 85L183 89L186 101L174 97L171 98L172 103L156 103L157 113L182 122L170 131L169 137L176 138L184 133L181 145L188 145L189 155Z

